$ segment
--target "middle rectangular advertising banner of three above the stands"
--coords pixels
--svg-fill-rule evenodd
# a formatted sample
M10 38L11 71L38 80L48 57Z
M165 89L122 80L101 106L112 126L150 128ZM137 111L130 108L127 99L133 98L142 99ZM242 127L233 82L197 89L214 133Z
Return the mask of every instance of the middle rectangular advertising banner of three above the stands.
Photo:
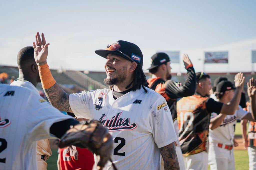
M205 63L228 63L228 51L205 52Z

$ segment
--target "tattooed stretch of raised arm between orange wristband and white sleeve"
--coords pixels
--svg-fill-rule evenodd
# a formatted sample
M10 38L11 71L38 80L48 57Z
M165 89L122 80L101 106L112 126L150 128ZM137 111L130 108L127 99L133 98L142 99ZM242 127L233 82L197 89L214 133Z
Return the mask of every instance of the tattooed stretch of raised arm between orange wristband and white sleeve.
M52 87L44 89L46 97L48 98L51 105L60 111L72 112L69 105L69 94L55 83Z

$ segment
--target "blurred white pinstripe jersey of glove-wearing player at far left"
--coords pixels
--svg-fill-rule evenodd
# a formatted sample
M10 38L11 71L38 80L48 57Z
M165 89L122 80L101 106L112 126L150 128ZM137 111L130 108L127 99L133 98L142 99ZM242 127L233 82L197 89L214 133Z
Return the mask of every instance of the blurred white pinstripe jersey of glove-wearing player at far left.
M70 118L32 90L0 84L0 169L37 169L36 141Z

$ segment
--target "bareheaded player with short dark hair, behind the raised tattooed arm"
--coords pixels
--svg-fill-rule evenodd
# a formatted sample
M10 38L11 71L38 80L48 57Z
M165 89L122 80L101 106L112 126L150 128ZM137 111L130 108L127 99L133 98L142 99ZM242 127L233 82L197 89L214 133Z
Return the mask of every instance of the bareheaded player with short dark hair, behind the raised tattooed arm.
M32 46L22 48L17 55L17 64L19 68L19 77L13 81L11 86L25 87L35 94L39 95L36 86L41 82L38 72L38 66L34 59L34 48ZM49 139L37 141L37 167L38 169L47 169L46 160L51 156Z

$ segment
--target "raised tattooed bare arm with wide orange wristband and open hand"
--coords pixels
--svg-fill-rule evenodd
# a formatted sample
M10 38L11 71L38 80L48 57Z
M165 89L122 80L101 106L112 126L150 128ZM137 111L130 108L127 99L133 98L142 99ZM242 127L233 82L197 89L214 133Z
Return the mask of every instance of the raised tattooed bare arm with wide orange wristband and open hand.
M47 55L49 43L46 43L44 33L36 33L36 42L33 42L33 47L35 49L34 57L38 65L39 75L44 88L46 97L49 102L55 108L60 111L72 112L69 105L69 94L67 94L59 85L56 83L51 75L49 66L47 65Z

